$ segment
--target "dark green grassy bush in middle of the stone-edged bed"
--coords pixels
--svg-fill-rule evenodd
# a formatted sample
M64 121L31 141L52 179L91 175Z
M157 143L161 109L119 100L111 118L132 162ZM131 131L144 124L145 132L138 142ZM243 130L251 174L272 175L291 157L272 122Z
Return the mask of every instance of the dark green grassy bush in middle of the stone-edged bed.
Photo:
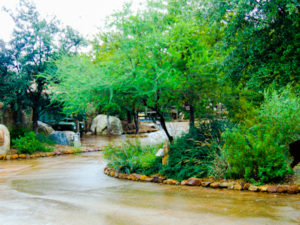
M207 177L221 145L221 133L229 127L224 120L210 120L175 140L163 174L177 180Z

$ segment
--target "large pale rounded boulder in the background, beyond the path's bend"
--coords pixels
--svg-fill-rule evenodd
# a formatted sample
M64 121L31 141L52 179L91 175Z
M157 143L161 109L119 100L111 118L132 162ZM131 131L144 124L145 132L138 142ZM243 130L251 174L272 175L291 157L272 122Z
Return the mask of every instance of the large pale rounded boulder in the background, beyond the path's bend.
M110 134L122 135L123 128L121 120L115 116L109 116ZM91 125L91 131L98 135L108 135L107 132L107 115L100 114L96 116Z

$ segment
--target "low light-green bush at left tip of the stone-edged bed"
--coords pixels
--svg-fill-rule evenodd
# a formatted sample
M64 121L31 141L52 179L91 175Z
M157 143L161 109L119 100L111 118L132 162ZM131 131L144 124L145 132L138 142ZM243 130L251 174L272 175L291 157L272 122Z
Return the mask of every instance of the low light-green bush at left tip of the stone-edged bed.
M121 146L109 145L105 148L104 158L108 166L123 173L143 173L150 175L160 169L161 159L155 156L158 147L142 146L140 141L129 140Z

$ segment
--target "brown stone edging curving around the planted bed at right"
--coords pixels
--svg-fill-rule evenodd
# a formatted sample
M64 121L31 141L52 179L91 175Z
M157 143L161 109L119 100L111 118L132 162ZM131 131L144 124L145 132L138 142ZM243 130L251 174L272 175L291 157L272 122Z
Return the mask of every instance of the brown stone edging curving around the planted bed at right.
M104 173L108 176L127 179L133 181L144 181L144 182L153 182L153 183L162 183L169 185L187 185L187 186L202 186L210 188L219 188L219 189L229 189L229 190L238 190L238 191L252 191L252 192L266 192L266 193L288 193L288 194L298 194L300 193L300 185L262 185L255 186L250 183L246 183L241 180L227 180L227 181L217 181L211 178L201 179L191 177L188 180L183 180L178 182L173 179L166 179L165 177L159 175L152 175L150 177L143 174L124 174L114 171L110 167L104 168Z

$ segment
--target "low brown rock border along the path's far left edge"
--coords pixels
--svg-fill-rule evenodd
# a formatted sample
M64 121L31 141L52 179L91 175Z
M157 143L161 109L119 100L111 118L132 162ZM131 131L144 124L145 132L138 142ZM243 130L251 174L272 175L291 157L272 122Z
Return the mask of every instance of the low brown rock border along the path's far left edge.
M61 150L57 152L39 152L35 154L1 154L0 160L34 159L34 158L42 158L42 157L78 154L78 153L86 153L86 152L99 152L99 151L102 151L102 149Z

